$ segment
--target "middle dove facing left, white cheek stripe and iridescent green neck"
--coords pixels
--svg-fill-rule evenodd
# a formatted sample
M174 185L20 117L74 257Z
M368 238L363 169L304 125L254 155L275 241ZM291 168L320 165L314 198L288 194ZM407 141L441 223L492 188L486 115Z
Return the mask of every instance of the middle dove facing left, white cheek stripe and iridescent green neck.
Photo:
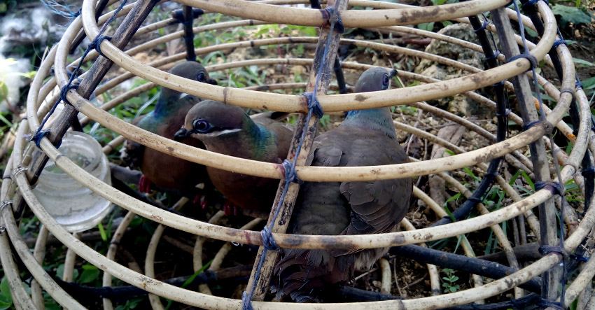
M276 120L286 113L260 113L253 117L238 106L205 100L186 116L176 139L192 136L212 152L281 164L285 160L293 128ZM211 183L232 204L244 209L271 209L279 180L248 176L207 167Z

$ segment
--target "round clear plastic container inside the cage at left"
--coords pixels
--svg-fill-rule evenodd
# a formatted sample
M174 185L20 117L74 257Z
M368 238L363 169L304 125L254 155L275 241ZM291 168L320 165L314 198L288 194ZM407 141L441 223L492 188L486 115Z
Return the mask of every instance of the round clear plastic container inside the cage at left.
M66 132L58 150L90 173L111 185L106 155L92 136L82 132ZM78 183L48 161L33 189L39 202L69 232L88 230L110 211L111 202Z

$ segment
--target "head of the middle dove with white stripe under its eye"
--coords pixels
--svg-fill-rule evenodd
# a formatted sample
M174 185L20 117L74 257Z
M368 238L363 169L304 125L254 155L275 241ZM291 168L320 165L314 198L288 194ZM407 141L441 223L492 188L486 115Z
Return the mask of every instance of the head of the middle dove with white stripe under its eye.
M237 135L244 129L245 122L251 122L251 120L238 106L205 100L188 111L184 126L176 132L174 139L181 141L188 136L193 136L204 143L209 143L214 139Z

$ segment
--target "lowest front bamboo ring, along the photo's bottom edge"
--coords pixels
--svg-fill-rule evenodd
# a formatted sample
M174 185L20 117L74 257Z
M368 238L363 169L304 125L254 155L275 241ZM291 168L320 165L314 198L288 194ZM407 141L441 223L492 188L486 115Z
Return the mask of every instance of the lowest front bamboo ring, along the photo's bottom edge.
M16 176L16 181L19 184L27 185L27 179L22 174ZM144 288L144 290L147 290L150 293L162 293L162 296L178 302L183 302L197 307L203 307L205 309L241 309L241 300L230 300L228 298L214 297L201 293L195 293L183 288L177 288L167 283L149 279L142 274L138 274L137 272L133 272L132 270L119 265L116 262L107 260L102 255L98 255L97 252L94 252L85 244L82 244L80 241L74 239L66 232L66 230L64 230L64 228L60 227L55 222L55 220L53 220L53 218L51 218L51 216L49 216L49 214L43 210L43 208L39 208L40 206L38 205L36 197L32 195L29 190L25 190L23 194L25 195L27 202L32 206L32 209L38 218L43 220L44 223L47 221L49 224L48 229L50 232L52 232L52 234L54 234L66 246L75 248L78 255L80 255L83 259L92 262L101 269L109 269L112 274L117 275L120 279L130 280L129 283L133 284L134 286ZM11 216L11 214L8 216ZM595 211L593 209L589 209L589 211L587 211L587 216L585 216L585 219L587 218L589 220L580 223L580 226L590 226L588 228L584 227L584 230L581 230L580 232L577 230L577 232L571 235L568 239L568 242L566 243L567 249L571 250L573 249L572 246L577 246L580 243L580 240L582 240L582 238L584 238L584 236L587 235L587 232L589 232L591 229L593 223L595 222ZM8 226L10 225L14 225L14 223L12 222L8 224ZM20 239L18 233L13 237ZM573 237L575 238L573 239ZM571 240L573 242L571 242ZM325 308L337 310L344 309L344 307L351 307L352 309L369 309L367 307L374 307L376 309L394 309L395 307L400 307L400 305L402 305L407 307L407 309L430 309L433 307L447 307L447 305L452 304L464 304L477 300L477 298L490 297L491 295L496 295L498 293L504 292L505 290L509 290L512 286L517 286L518 284L524 283L525 281L533 278L535 274L541 274L542 272L545 272L545 270L556 265L560 260L561 255L550 253L537 262L534 262L529 267L525 267L524 269L521 269L519 272L516 272L510 276L493 281L480 288L471 288L469 290L459 291L449 295L423 297L416 300L404 301L391 300L384 302L325 304ZM278 302L253 302L253 305L258 307L258 309L278 309L278 307L283 307L286 309L316 309L318 307L317 304L293 304Z

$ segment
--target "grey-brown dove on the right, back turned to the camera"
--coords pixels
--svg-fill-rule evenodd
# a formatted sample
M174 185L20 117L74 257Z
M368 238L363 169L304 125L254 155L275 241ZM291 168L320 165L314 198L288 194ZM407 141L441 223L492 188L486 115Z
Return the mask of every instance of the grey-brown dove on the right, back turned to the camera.
M365 71L356 92L386 90L395 71ZM407 162L398 143L390 108L350 111L339 127L314 139L307 164L322 167L371 166ZM306 182L290 219L292 234L379 234L395 232L409 209L412 180ZM321 301L325 290L370 269L388 248L353 250L281 249L272 290L278 298Z

